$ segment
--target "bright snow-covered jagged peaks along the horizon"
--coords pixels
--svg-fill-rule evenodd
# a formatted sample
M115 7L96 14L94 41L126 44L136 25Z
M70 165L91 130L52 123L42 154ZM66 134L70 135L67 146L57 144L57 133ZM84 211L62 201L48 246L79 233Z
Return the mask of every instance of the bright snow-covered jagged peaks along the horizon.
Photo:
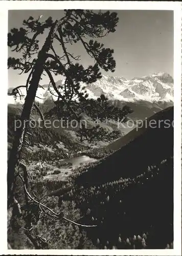
M56 86L58 87L62 83L62 80L58 80ZM85 86L85 84L81 84L81 86ZM43 88L44 90L38 88L36 94L36 100L41 103L52 97L52 94L48 90L48 84L45 84ZM149 102L173 101L173 78L163 72L154 73L151 76L134 77L131 80L123 77L103 75L101 79L98 79L95 83L86 85L85 88L90 98L97 98L103 93L109 99L117 99L125 102L141 100ZM11 90L9 89L9 92ZM26 89L21 90L21 92L23 95L26 95ZM8 97L8 103L17 102L20 102L20 100L17 99L15 101L13 96ZM21 102L23 103L23 100Z

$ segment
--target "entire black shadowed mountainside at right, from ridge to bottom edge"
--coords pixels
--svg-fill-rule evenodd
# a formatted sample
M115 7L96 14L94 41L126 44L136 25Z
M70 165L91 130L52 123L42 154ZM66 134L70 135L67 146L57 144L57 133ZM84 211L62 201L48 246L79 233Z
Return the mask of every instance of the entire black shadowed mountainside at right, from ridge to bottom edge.
M154 118L172 123L173 108ZM148 127L82 172L66 198L81 210L81 223L98 225L85 229L97 248L172 248L173 127Z

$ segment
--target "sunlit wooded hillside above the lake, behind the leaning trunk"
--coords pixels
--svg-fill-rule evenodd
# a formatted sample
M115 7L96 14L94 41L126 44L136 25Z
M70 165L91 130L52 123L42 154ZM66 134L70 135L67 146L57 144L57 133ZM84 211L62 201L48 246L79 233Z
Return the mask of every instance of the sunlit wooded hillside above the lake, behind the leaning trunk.
M12 108L9 108L12 111ZM14 139L14 120L19 119L19 112L8 113L8 154ZM13 109L14 111L14 109ZM15 114L17 113L17 114ZM37 117L36 117L37 118ZM36 119L35 119L36 120ZM77 151L87 150L89 147L80 143L64 129L47 129L46 127L29 127L22 150L22 159L25 161L54 160L71 157Z

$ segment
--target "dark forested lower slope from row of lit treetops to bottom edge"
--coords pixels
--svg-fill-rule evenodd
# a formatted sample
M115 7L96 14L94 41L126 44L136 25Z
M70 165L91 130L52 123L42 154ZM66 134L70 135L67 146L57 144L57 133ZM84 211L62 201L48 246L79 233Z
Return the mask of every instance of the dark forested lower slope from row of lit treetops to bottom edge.
M172 248L173 158L134 177L115 177L63 197L76 202L80 223L98 225L85 229L87 237L100 249Z

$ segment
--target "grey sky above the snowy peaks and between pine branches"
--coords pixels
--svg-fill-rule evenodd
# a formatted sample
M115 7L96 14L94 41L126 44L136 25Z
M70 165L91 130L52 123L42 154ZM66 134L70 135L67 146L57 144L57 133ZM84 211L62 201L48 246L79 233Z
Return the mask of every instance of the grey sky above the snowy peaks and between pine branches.
M114 73L102 71L104 75L122 76L132 79L137 76L150 75L154 72L167 72L173 76L173 11L147 10L117 10L119 23L115 33L102 38L105 47L114 49L116 71ZM49 16L53 20L63 15L62 10L10 10L9 31L22 27L22 20L29 16L42 21ZM40 46L47 33L41 35ZM59 45L56 50L59 53ZM80 43L69 48L71 53L81 55L83 66L93 63ZM19 54L8 49L8 55L20 57ZM27 74L18 75L18 71L9 69L9 87L16 87L26 83ZM42 77L41 84L49 83L48 77ZM59 80L59 77L56 77Z

